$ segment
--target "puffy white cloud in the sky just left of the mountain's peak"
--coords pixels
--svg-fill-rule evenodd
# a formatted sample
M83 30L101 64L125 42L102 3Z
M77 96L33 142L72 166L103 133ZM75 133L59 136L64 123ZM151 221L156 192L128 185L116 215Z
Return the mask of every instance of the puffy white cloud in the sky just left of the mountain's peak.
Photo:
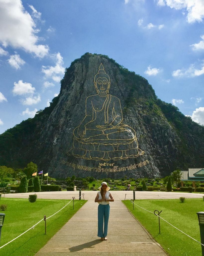
M63 58L58 52L54 55L56 59L56 65L53 66L42 66L42 72L45 74L46 78L52 78L54 81L59 82L62 78L62 74L65 72L65 68L62 67L64 64ZM61 76L59 76L61 74Z

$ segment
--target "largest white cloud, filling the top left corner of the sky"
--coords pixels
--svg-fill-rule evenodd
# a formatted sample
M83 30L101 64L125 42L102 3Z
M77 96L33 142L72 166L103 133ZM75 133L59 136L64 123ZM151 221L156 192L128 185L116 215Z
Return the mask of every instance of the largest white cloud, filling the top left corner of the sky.
M36 24L24 9L21 0L0 0L0 42L4 47L20 48L43 58L48 54L47 45L37 45Z

